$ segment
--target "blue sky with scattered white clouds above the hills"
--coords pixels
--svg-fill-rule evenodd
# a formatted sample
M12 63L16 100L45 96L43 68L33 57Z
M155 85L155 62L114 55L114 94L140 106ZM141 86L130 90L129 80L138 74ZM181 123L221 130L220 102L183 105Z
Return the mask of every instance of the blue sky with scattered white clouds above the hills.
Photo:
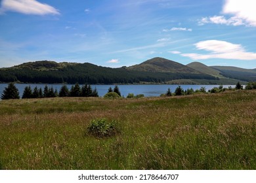
M256 68L252 0L2 0L0 67L36 60L106 67L163 57Z

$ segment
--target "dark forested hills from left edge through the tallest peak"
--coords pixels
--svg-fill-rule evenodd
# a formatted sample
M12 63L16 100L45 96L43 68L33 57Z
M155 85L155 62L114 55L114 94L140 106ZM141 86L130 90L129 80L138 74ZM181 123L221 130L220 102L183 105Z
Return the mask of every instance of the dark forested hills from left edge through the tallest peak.
M163 58L150 59L139 66L116 69L92 63L54 61L35 61L0 69L0 82L134 84L167 83L180 79L215 80L215 77Z

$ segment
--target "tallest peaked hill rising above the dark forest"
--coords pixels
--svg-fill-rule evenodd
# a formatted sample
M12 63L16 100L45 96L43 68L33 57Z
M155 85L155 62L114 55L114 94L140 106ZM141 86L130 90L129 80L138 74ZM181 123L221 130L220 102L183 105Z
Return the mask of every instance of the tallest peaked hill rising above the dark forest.
M172 61L165 58L152 58L140 63L139 65L133 65L127 67L130 71L146 71L152 73L196 73L199 74L199 71L182 65L176 61Z

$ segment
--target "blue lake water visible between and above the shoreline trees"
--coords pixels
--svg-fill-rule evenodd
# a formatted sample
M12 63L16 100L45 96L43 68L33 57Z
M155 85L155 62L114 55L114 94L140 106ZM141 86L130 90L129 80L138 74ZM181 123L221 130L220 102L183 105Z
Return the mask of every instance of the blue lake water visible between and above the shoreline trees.
M62 87L62 84L15 84L16 88L18 88L20 92L20 97L22 97L22 93L26 86L31 86L32 90L37 86L37 88L45 88L47 85L49 88L53 86L53 89L57 89L58 91ZM8 86L8 84L0 84L0 95L3 93L3 90ZM72 87L72 84L67 84L68 88ZM80 85L82 86L82 85ZM168 88L171 89L171 92L175 92L175 89L179 85L176 84L129 84L129 85L118 85L119 91L123 97L126 97L128 93L144 94L145 97L155 97L160 96L162 93L166 93ZM202 86L206 88L206 90L211 90L213 87L219 87L219 85L180 85L183 90L187 90L188 88L193 88L193 90L200 89ZM234 85L223 85L224 88L228 88L228 86ZM98 95L100 97L104 96L108 92L108 88L112 87L114 89L115 85L91 85L91 87L98 91Z

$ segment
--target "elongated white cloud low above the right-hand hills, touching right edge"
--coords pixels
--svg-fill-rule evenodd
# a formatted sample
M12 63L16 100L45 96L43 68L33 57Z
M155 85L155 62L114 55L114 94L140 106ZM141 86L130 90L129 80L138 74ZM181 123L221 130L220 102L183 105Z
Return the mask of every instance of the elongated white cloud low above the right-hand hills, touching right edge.
M256 59L256 53L246 52L241 44L232 44L226 41L207 40L200 41L194 44L198 50L206 50L210 54L181 54L181 56L191 59L240 59L240 60L253 60Z

